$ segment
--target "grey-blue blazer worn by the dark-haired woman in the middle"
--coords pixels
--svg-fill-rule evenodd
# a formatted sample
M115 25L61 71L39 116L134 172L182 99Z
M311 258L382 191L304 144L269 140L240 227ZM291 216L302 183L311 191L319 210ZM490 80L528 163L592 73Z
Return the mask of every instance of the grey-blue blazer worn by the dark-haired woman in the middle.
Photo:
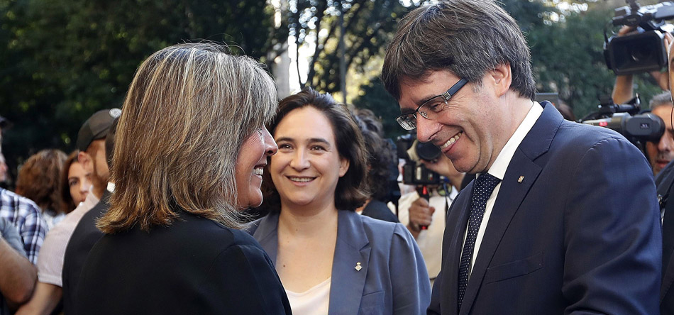
M272 213L247 228L274 263L278 220ZM429 275L416 241L401 223L340 210L334 257L328 314L426 314Z

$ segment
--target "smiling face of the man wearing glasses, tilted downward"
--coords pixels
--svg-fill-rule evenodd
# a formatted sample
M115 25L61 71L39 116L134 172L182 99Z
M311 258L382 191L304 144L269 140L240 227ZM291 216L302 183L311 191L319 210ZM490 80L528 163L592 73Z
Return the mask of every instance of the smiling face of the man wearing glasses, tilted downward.
M459 172L471 174L486 172L493 164L511 133L507 132L504 117L509 113L499 106L499 73L487 73L482 86L475 91L469 82L457 92L430 120L417 114L416 137L431 142L450 158ZM399 104L402 113L414 111L419 104L445 92L459 81L449 71L429 72L423 81L403 80Z

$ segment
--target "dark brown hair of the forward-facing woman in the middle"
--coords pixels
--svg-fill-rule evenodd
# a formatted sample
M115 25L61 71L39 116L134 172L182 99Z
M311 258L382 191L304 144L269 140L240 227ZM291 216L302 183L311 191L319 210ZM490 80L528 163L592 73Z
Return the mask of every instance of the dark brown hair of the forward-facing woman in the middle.
M274 135L276 127L287 114L294 109L301 109L305 106L311 106L321 111L328 118L335 134L339 157L349 161L346 174L340 177L337 182L335 206L337 209L355 210L362 206L369 197L368 189L365 186L368 153L365 150L363 136L360 134L358 125L356 125L345 105L337 103L329 94L321 94L307 87L302 92L282 99L278 113L268 129ZM270 211L280 211L280 196L272 182L269 167L266 168L265 179L263 180L264 206L265 209Z

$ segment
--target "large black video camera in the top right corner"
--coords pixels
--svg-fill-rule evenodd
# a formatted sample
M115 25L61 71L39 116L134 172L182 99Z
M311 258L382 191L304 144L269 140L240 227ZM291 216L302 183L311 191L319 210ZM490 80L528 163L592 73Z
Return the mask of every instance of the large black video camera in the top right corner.
M628 6L615 9L613 26L633 26L635 33L607 38L604 30L604 59L615 74L634 74L661 70L667 65L664 33L674 31L665 20L674 17L670 1L640 7L636 0L626 0Z

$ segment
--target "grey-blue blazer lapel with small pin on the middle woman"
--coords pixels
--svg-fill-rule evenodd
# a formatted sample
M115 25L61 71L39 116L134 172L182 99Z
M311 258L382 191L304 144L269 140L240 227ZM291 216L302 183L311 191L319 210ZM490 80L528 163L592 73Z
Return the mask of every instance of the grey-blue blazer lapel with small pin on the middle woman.
M328 314L358 314L370 262L370 242L360 214L340 210ZM360 262L362 269L356 270Z

